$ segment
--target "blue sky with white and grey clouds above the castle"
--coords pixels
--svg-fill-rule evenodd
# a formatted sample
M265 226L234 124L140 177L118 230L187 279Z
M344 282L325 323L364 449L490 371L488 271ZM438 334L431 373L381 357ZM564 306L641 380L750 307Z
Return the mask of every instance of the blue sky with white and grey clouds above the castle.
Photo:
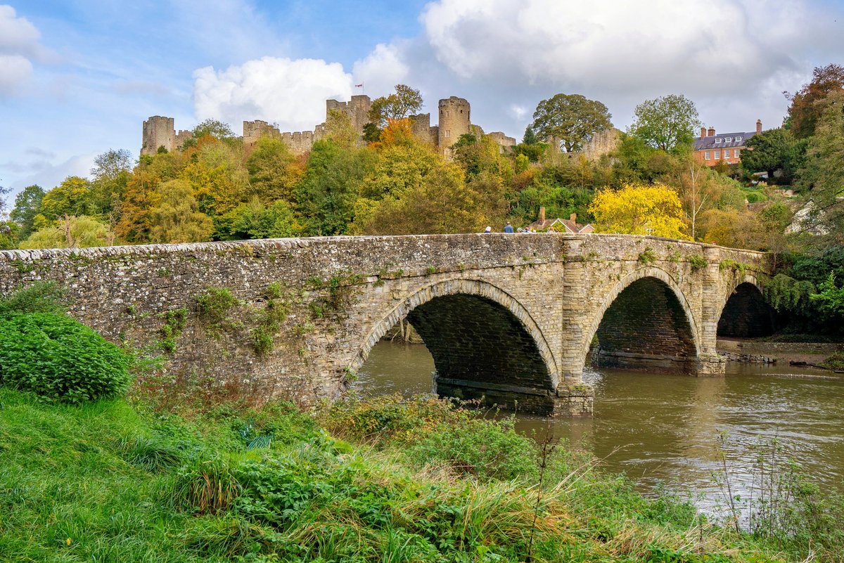
M8 1L8 0L7 0ZM521 139L539 101L583 94L624 130L684 94L717 131L780 126L812 69L844 64L844 0L0 0L0 186L136 157L150 115L311 130L325 99L419 88ZM363 84L357 88L356 84Z

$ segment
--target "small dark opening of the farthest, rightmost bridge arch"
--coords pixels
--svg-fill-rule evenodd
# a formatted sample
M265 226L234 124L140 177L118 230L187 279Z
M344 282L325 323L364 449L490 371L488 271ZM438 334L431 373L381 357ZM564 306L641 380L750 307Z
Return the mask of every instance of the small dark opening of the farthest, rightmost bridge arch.
M738 276L724 298L718 317L718 336L756 338L770 336L776 328L774 309L766 303L755 276Z

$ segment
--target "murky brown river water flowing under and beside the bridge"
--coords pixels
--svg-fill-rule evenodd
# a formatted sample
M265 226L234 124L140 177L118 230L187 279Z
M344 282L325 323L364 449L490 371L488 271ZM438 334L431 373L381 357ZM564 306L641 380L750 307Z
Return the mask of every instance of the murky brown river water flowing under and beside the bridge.
M362 394L429 393L433 369L425 346L381 342L356 386ZM589 371L594 417L519 415L517 427L549 429L603 458L607 469L624 472L644 490L664 482L709 498L719 496L712 480L721 467L719 433L727 434L728 467L739 490L749 486L753 447L776 438L813 480L844 492L844 380L793 377L819 373L738 363L728 364L725 378Z

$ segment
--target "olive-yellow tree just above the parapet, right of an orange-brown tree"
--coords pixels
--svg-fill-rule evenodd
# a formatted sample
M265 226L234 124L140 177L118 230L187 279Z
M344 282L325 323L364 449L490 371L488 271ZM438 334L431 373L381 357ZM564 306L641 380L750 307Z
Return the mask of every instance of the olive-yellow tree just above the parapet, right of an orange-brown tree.
M214 223L199 212L191 185L170 180L160 185L158 205L149 210L149 241L152 243L197 243L211 239Z

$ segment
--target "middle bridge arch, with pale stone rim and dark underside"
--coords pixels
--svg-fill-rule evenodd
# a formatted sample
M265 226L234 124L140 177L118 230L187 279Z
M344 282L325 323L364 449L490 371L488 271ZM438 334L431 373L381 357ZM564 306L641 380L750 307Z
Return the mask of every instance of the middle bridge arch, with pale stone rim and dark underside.
M603 299L582 357L588 358L590 349L592 364L600 367L695 373L701 342L677 281L645 266L622 277Z

